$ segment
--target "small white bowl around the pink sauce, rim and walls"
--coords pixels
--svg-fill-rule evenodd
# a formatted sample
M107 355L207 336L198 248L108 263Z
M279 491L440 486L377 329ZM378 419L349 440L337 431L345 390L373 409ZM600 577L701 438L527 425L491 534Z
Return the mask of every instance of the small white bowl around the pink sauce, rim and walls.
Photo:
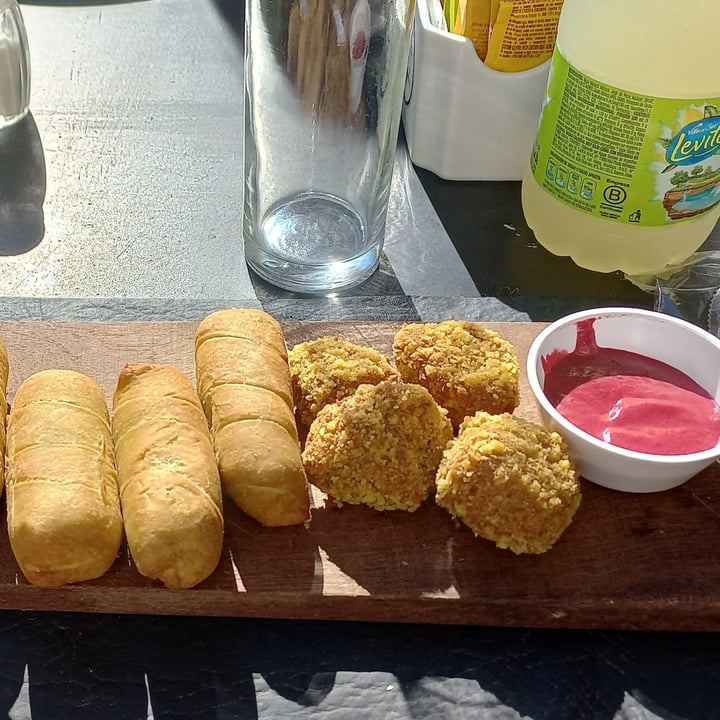
M540 417L568 445L578 472L615 490L656 492L689 480L720 458L720 445L687 455L653 455L615 447L566 420L543 392L542 359L553 351L575 349L577 326L593 318L597 344L645 355L689 375L720 402L720 340L685 320L652 310L601 308L563 317L533 340L527 375Z

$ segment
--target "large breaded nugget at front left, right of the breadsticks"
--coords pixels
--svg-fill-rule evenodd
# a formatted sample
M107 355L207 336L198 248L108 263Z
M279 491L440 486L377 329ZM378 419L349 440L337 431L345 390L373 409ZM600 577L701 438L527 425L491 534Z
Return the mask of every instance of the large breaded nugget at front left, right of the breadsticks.
M431 494L452 427L419 385L383 381L326 405L310 426L308 480L338 504L417 510Z

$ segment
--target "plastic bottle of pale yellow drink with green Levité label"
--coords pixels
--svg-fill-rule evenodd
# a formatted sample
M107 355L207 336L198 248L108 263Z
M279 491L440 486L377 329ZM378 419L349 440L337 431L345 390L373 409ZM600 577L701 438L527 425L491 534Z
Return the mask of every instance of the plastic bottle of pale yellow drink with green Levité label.
M565 0L526 220L580 266L659 273L720 216L718 0Z

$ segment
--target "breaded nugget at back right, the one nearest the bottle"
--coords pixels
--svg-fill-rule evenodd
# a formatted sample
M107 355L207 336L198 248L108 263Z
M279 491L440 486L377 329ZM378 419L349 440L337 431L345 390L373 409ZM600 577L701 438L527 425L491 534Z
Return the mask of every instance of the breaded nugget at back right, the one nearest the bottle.
M520 402L520 363L512 344L480 323L408 323L393 354L400 377L430 391L457 429L478 410L512 412Z

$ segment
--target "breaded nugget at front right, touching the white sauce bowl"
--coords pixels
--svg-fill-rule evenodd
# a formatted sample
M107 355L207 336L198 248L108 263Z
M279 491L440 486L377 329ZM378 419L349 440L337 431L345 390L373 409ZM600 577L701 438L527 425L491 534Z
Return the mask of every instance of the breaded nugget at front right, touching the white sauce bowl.
M468 417L445 450L435 496L476 535L518 554L549 550L580 498L558 433L509 413L485 412Z

